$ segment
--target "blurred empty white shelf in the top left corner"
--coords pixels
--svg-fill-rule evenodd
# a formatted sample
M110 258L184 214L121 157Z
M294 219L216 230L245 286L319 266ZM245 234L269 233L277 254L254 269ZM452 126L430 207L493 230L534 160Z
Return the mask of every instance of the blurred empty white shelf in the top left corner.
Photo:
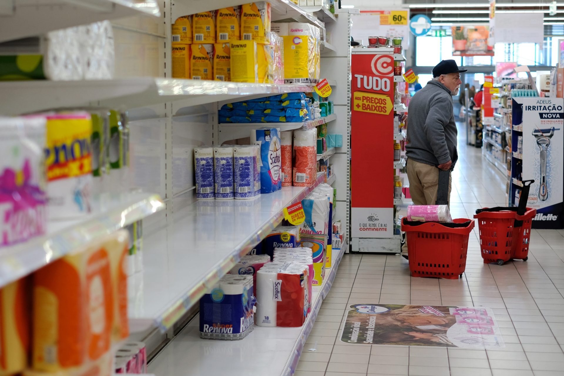
M161 15L156 0L15 0L10 3L14 7L2 12L0 42L120 17Z

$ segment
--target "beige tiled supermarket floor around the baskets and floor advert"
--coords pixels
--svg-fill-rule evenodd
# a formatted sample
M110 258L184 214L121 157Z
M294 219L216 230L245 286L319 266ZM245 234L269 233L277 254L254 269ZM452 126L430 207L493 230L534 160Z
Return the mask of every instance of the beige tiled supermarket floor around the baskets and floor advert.
M459 153L453 172L453 218L472 218L477 207L505 206L505 180L480 149L460 144ZM295 375L564 375L563 260L562 230L533 230L528 261L504 266L483 264L474 231L460 280L412 278L407 261L396 255L347 254ZM506 347L486 351L345 344L336 338L349 303L490 307Z

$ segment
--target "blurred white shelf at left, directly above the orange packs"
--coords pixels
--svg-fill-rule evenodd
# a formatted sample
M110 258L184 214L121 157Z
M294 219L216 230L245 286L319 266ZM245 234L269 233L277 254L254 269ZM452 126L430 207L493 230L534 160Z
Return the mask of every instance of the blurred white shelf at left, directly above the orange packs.
M49 220L46 235L2 248L0 287L46 266L88 242L164 208L158 194L104 194L92 200L96 210L74 220Z

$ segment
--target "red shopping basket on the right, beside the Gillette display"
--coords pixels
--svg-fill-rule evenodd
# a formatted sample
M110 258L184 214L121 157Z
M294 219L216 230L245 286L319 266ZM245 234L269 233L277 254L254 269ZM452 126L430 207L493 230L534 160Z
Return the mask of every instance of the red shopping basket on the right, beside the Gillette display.
M516 208L515 208L516 210ZM528 245L531 237L532 218L535 209L526 208L519 215L514 210L480 211L474 215L478 219L480 248L484 264L503 265L510 259L528 258ZM515 227L515 221L521 226Z

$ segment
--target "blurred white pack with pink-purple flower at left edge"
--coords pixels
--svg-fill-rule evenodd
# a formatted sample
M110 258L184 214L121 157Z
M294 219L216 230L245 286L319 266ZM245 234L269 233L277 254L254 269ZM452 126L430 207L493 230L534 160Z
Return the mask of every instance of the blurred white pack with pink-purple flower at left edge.
M44 145L44 117L0 117L0 249L46 231Z

